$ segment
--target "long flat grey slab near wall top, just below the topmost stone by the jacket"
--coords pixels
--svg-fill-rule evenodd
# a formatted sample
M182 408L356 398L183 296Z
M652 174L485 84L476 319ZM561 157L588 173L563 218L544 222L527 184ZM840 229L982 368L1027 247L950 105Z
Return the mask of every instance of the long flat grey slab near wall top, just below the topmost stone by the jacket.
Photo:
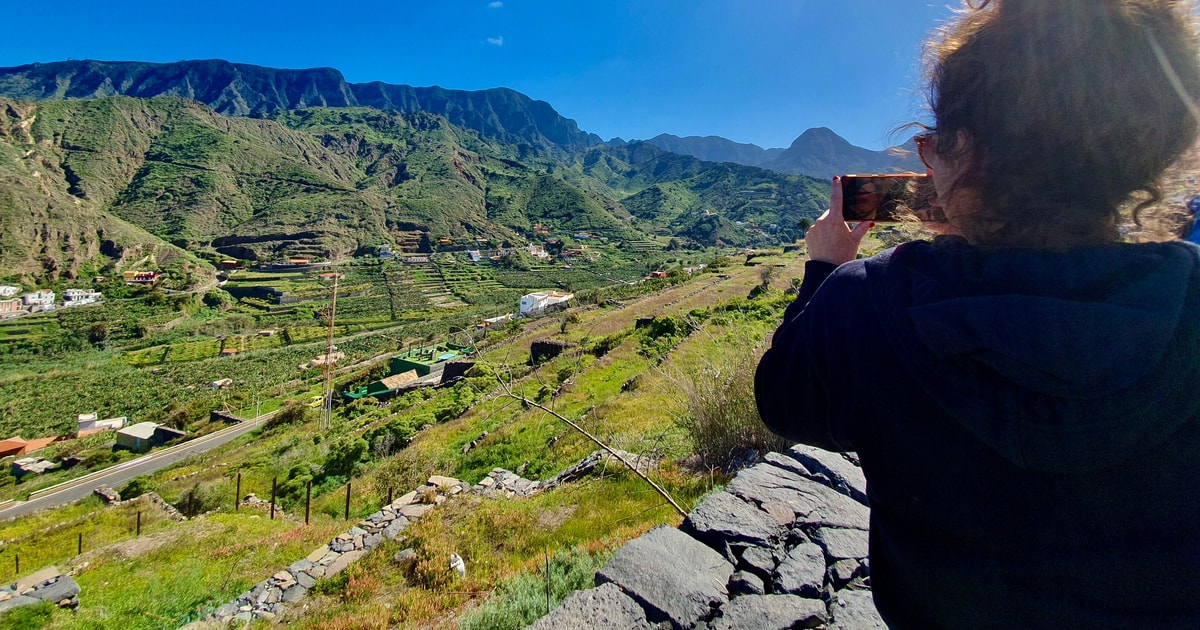
M863 530L870 527L870 511L862 503L769 463L739 472L725 491L756 505L784 504L796 514L794 524Z

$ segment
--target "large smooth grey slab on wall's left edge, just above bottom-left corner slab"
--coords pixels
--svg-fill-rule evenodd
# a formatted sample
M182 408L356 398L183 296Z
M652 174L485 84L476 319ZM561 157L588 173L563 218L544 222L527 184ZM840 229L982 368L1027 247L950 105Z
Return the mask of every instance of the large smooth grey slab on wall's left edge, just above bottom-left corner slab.
M733 565L710 547L660 526L625 544L596 572L596 583L619 586L652 623L691 628L728 601L725 586L731 575Z

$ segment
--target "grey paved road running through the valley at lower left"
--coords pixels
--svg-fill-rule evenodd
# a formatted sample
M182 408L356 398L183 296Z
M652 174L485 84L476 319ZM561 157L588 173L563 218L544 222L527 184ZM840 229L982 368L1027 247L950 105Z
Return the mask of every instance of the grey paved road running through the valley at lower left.
M56 486L38 490L32 492L30 494L30 499L25 502L0 504L0 520L23 516L37 510L44 510L47 508L54 508L56 505L79 500L91 494L92 491L102 485L120 487L134 476L161 470L198 452L205 452L223 446L238 437L263 426L263 424L270 420L276 413L278 412L263 414L254 420L246 420L244 422L222 428L221 431L209 433L208 436L160 450L158 452L151 452L136 460L121 462L103 470L90 473L78 479L64 481Z

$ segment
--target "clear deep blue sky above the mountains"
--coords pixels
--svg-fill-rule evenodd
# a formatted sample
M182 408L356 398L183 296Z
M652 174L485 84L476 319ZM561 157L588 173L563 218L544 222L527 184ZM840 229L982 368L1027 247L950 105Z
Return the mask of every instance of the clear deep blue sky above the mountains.
M41 0L5 13L0 66L329 66L355 83L512 88L605 139L774 148L824 126L869 149L922 118L922 42L952 16L947 0Z

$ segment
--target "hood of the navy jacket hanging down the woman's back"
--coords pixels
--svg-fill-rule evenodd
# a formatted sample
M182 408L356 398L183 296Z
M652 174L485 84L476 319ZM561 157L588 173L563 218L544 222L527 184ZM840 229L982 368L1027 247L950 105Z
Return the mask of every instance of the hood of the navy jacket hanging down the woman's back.
M1200 413L1200 248L912 242L865 262L920 386L1010 462L1104 468Z

